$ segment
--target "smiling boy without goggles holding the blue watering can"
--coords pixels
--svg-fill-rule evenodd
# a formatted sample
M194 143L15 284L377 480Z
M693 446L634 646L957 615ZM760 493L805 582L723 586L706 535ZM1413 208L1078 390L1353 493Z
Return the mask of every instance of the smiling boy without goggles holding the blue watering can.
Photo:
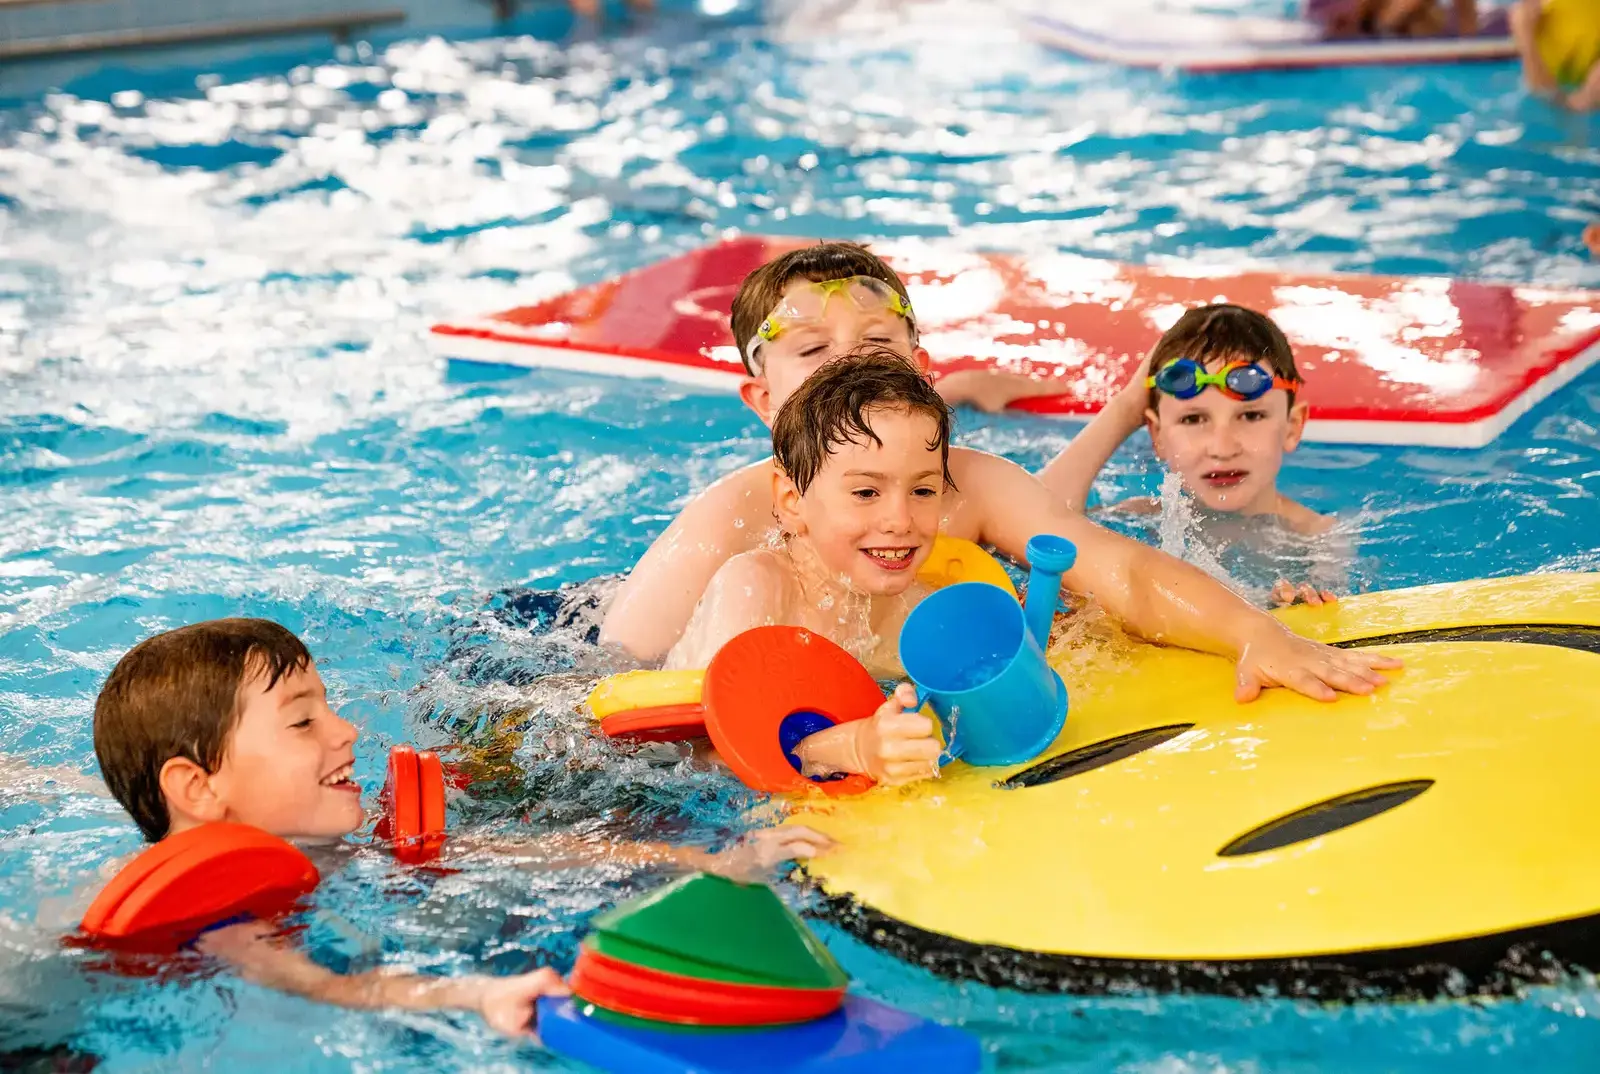
M899 627L928 589L917 571L939 536L950 480L950 408L899 354L870 347L824 363L773 421L779 543L712 576L667 667L704 667L758 626L802 626L899 677ZM938 771L933 722L901 685L866 720L800 743L808 771L906 783Z

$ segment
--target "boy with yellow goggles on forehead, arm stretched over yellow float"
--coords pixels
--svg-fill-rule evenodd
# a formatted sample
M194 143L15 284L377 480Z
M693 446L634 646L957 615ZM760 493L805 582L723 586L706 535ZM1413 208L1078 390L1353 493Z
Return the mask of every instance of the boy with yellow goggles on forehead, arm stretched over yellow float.
M878 304L872 296L882 291L858 277L886 285L898 301ZM918 368L928 365L906 285L856 243L806 246L746 277L733 299L733 336L746 347L749 371L739 395L768 426L818 367L861 344L886 346ZM1384 682L1379 669L1398 666L1378 653L1336 650L1291 634L1203 571L1088 522L1000 456L950 448L949 474L954 488L941 504L941 533L1018 560L1035 535L1074 541L1078 560L1066 576L1070 589L1093 594L1141 637L1237 659L1240 701L1272 685L1323 701L1338 690L1371 693ZM771 543L776 477L773 461L762 459L699 493L618 589L600 640L640 659L666 656L718 568Z

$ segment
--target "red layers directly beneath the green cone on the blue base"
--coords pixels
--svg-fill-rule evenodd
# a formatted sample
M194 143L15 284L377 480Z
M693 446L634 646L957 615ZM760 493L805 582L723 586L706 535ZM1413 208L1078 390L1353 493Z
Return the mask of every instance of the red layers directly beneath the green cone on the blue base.
M787 989L730 984L662 973L618 962L584 948L571 975L573 991L606 1010L680 1026L778 1026L826 1018L845 989Z

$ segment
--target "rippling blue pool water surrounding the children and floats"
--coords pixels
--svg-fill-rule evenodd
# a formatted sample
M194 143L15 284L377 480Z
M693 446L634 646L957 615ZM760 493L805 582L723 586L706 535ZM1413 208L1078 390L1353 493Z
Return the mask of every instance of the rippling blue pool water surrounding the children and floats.
M712 842L747 795L619 755L573 712L582 624L525 587L626 570L763 455L733 399L445 365L498 309L725 229L1600 287L1597 128L1509 67L1173 78L1042 51L987 5L794 5L576 43L400 38L102 74L0 110L0 754L93 771L88 715L146 634L299 631L366 736L517 770L462 821ZM1600 567L1600 373L1478 451L1307 448L1286 487L1360 530L1360 587ZM1069 426L962 416L1029 466ZM1154 491L1149 450L1102 498ZM605 583L598 583L605 589ZM573 672L555 674L550 672ZM227 978L85 976L38 908L138 845L83 794L0 794L0 1052L99 1069L560 1064L472 1018L317 1008ZM621 868L443 879L362 853L318 895L333 965L566 965ZM1442 893L1448 898L1448 893ZM1515 1002L1050 999L936 981L824 927L859 986L978 1031L998 1069L1587 1069L1590 983Z

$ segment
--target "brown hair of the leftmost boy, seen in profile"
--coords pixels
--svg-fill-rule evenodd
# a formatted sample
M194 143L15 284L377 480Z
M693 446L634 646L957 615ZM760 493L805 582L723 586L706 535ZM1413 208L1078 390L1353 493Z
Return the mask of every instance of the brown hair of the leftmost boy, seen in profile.
M270 619L182 626L117 661L94 701L94 757L146 839L171 828L162 765L186 757L216 771L238 723L240 687L266 675L270 690L310 664L304 642Z

